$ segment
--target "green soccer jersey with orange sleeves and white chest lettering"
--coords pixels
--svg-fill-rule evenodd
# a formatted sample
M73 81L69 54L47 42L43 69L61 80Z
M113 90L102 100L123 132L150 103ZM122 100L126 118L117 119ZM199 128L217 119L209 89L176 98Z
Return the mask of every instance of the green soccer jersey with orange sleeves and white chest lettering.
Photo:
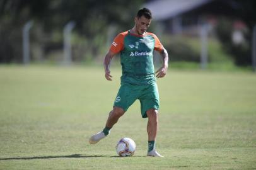
M111 52L120 52L122 65L121 83L149 84L155 81L153 51L163 50L160 40L153 33L134 35L130 31L119 33L110 47Z

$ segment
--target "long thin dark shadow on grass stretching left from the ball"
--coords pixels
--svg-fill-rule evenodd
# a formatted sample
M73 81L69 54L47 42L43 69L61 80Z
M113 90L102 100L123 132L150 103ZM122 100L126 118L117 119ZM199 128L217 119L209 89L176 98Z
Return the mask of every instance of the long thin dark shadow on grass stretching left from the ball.
M81 154L73 154L70 156L34 156L34 157L6 157L0 158L0 161L4 160L31 160L31 159L54 159L54 158L82 158L82 157L103 157L103 156L85 156Z

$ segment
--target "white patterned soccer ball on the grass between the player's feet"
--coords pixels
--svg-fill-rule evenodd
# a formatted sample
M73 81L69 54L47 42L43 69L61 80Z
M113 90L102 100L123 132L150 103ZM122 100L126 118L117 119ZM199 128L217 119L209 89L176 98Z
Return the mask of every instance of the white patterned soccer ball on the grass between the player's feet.
M136 144L131 138L124 137L119 140L115 149L119 156L132 156L136 150Z

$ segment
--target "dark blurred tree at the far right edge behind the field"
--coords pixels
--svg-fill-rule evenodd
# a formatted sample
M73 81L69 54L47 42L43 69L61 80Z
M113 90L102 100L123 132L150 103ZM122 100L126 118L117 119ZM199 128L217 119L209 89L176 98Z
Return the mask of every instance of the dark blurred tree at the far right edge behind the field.
M222 18L217 26L218 37L221 40L224 50L232 54L235 64L239 66L252 64L252 31L256 25L256 1L230 1L235 9L234 16L243 21L247 29L242 30L245 41L240 44L234 44L230 31L233 30L233 20Z

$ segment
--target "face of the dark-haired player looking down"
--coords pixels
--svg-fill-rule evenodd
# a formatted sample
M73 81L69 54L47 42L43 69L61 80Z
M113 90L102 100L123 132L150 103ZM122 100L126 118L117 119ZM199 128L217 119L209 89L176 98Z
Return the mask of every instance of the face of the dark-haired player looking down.
M151 23L151 19L146 18L145 16L141 16L141 18L135 18L136 23L136 31L139 35L143 35L146 30L148 30L149 25Z

